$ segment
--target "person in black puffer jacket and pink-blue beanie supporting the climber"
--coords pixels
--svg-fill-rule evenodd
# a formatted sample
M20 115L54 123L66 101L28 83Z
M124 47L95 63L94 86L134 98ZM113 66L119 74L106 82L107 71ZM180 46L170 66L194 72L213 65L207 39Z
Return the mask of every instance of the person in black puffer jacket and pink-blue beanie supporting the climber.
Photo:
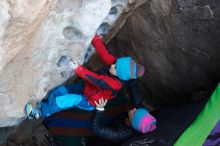
M95 102L96 110L92 117L91 131L98 137L107 141L123 142L137 134L137 131L144 134L156 128L156 119L144 108L133 108L128 111L127 115L118 116L110 124L103 123L106 103L107 99L103 98Z

